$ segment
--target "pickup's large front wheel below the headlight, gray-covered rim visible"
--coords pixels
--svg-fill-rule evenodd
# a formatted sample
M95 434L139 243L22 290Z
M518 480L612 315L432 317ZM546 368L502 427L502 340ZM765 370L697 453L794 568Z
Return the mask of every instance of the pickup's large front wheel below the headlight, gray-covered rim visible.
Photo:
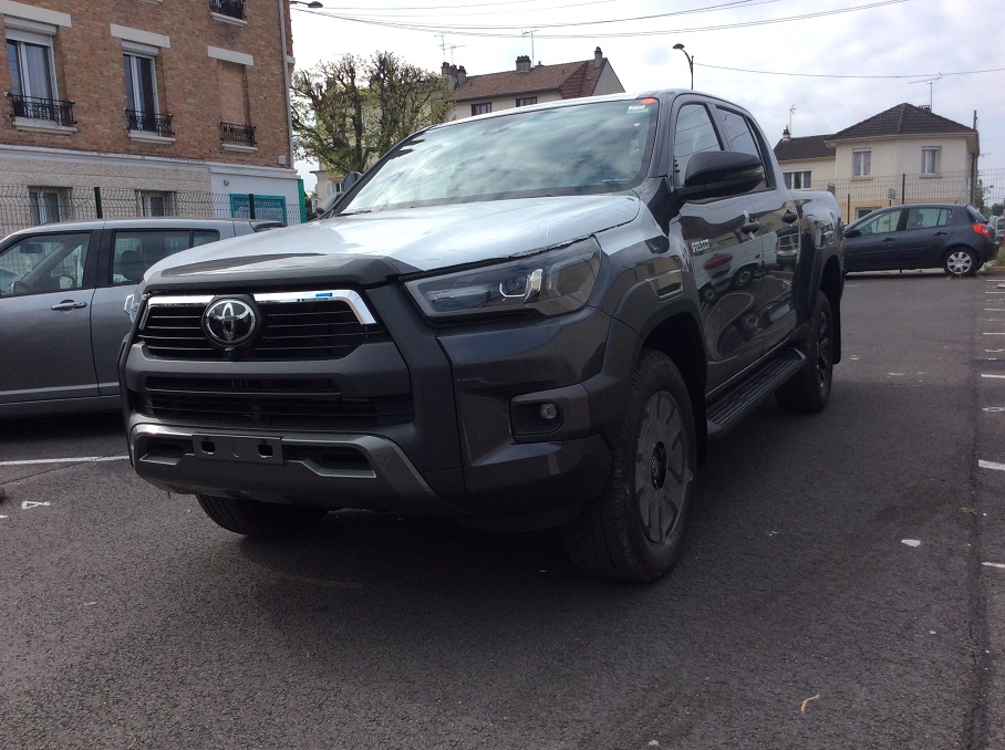
M572 563L591 575L653 581L681 554L694 492L691 397L673 362L645 350L603 494L562 528Z

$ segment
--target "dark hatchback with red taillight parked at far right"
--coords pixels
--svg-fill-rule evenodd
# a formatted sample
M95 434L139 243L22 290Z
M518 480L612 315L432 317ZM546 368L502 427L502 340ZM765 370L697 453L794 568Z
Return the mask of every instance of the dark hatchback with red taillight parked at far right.
M973 206L894 206L845 229L848 272L941 268L951 277L964 277L994 257L991 229Z

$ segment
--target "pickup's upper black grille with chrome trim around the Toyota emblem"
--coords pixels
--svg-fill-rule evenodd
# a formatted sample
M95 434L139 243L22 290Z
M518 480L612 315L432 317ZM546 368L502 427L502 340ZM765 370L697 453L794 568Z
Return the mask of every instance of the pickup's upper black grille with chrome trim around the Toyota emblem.
M241 360L338 360L366 342L388 337L354 293L260 294L255 300L261 330L252 344L234 353ZM166 360L225 358L224 350L203 331L203 313L210 301L151 298L138 334L148 353Z

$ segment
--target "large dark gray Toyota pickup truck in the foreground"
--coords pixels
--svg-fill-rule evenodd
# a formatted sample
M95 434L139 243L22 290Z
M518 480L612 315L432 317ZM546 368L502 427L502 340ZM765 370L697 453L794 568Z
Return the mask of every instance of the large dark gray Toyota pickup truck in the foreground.
M321 220L151 269L131 459L241 534L346 508L558 528L582 570L653 580L707 442L771 394L827 404L842 231L713 96L429 127Z

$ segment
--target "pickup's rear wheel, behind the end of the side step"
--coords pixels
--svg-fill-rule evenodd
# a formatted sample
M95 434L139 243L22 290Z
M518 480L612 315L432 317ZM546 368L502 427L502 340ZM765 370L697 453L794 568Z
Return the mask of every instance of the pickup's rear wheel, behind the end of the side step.
M830 300L822 292L817 294L812 320L799 348L806 355L806 366L775 392L775 398L787 412L816 414L827 406L833 377L833 316Z

